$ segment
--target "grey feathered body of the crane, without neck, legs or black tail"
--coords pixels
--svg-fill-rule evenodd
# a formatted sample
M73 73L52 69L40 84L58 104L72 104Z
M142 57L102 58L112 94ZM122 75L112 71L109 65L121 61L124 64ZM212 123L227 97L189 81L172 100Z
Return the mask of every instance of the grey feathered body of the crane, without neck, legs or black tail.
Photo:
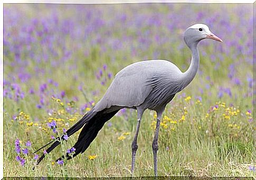
M171 100L170 96L183 88L182 75L176 65L165 60L131 64L117 73L94 111L111 106L157 110L159 105L166 105Z

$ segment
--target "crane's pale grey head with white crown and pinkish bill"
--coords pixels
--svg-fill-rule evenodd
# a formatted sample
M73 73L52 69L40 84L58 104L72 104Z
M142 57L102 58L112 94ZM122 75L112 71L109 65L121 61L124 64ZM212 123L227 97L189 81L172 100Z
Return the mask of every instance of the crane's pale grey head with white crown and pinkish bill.
M186 29L184 33L184 41L188 47L194 43L200 42L202 39L214 39L216 41L222 42L221 38L214 35L207 25L205 24L195 24Z

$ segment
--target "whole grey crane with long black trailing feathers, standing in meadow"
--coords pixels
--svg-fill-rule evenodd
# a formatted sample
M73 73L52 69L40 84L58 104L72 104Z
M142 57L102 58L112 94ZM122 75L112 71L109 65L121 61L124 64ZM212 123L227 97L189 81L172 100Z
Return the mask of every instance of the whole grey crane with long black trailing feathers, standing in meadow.
M115 116L122 108L132 108L137 110L136 132L131 143L131 174L133 174L138 149L137 137L140 122L144 111L151 109L157 114L156 128L152 143L154 174L157 176L160 119L165 111L166 105L172 101L175 94L182 91L194 79L200 64L200 55L197 45L203 39L214 39L223 42L222 39L214 35L205 24L198 23L188 27L184 33L184 41L191 50L192 58L191 64L184 73L175 64L164 59L140 61L121 69L121 71L116 74L100 101L66 132L66 136L68 135L69 137L82 128L77 142L73 146L75 149L74 154L70 156L67 153L56 161L63 158L71 159L86 151L94 138L96 138L100 129L109 119ZM60 140L64 140L63 135L55 141L51 141L39 148L37 151L51 144L51 146L46 149L46 153L50 153L56 146L61 144ZM36 164L39 164L44 157L45 155L43 154L37 160Z

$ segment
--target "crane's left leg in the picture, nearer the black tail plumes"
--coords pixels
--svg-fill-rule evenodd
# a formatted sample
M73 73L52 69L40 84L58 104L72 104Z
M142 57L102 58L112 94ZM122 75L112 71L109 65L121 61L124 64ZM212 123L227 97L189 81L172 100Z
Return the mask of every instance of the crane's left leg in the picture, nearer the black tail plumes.
M143 115L143 112L144 111L141 111L141 109L137 108L138 121L137 121L136 133L135 133L135 136L134 136L134 141L132 141L132 143L131 143L131 151L132 151L132 154L131 154L131 174L134 174L135 157L136 157L136 152L137 152L137 149L138 149L137 137L138 137L138 134L139 134L140 119Z

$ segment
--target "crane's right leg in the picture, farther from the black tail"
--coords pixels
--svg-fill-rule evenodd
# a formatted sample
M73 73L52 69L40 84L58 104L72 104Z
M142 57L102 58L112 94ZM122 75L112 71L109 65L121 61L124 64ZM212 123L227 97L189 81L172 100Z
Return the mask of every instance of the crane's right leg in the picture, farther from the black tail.
M157 151L158 151L158 133L159 133L159 127L160 127L160 118L162 116L163 111L157 112L157 118L156 118L156 131L155 136L152 144L153 154L154 154L154 173L155 176L157 176Z

